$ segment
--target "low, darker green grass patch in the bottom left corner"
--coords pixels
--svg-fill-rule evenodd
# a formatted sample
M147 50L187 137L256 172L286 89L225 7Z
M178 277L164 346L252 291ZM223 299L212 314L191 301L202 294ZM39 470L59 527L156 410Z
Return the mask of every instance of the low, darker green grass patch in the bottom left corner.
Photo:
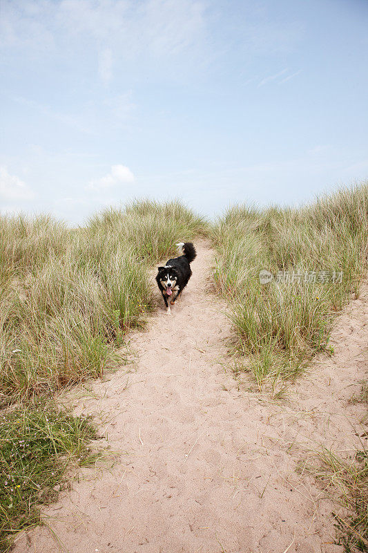
M25 527L41 523L40 506L57 498L70 463L88 463L95 428L52 404L0 415L0 552Z

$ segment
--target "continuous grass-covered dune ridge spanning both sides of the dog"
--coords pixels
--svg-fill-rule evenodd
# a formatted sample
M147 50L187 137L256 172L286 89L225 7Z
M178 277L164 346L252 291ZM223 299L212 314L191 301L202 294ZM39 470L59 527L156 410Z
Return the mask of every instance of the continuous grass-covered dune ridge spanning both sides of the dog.
M55 497L70 460L90 458L90 422L50 400L124 361L126 333L153 309L153 265L201 235L215 245L237 367L260 387L275 385L329 350L333 316L358 294L368 186L302 209L233 207L212 227L178 202L149 200L106 209L78 229L48 216L0 216L0 551L39 522L39 503ZM269 283L260 283L262 270Z

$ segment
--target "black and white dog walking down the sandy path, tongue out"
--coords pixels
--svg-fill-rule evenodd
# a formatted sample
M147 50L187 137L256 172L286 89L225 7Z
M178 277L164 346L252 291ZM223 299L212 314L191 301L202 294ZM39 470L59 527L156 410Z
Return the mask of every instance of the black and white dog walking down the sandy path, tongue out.
M197 255L191 242L180 242L177 246L182 255L175 257L175 259L169 259L164 267L159 267L156 277L157 285L161 290L167 308L167 315L171 313L168 298L171 297L170 303L173 306L191 278L191 262Z

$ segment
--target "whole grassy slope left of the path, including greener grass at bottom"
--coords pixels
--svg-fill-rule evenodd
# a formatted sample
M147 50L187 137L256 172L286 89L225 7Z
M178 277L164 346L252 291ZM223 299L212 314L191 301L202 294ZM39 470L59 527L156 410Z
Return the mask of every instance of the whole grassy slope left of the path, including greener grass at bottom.
M39 522L68 460L89 456L90 423L50 398L122 363L117 348L153 307L153 264L205 229L175 201L135 201L72 230L0 217L0 550Z

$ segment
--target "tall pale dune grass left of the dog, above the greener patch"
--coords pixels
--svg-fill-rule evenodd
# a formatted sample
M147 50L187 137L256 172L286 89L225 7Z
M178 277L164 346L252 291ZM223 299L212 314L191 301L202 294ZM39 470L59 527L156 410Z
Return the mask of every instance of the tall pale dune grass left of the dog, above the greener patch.
M3 401L101 376L152 309L151 265L205 228L175 201L135 200L73 230L48 216L0 218Z

